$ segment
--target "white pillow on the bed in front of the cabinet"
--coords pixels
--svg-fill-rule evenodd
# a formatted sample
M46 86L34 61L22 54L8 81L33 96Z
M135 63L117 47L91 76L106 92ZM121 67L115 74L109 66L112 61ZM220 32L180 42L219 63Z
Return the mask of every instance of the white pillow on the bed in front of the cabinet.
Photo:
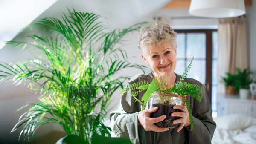
M213 121L217 124L217 128L226 130L244 130L256 124L256 118L241 114L224 115L213 118Z

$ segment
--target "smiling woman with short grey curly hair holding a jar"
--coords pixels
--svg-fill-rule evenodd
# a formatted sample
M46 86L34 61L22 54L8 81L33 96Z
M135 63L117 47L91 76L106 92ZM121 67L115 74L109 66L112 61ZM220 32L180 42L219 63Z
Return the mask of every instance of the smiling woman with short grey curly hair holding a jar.
M180 75L175 74L176 67L176 33L166 23L156 23L155 26L146 25L140 30L138 47L142 52L141 57L150 65L153 72L135 75L128 82L128 86L137 82L151 83L154 77L162 79L167 75L168 87L180 80ZM190 131L189 114L186 105L175 106L181 112L174 112L172 116L180 119L173 123L180 123L177 129L159 128L154 123L163 121L166 116L150 118L150 114L157 107L141 111L142 105L135 102L128 91L122 95L117 109L111 112L111 136L128 138L134 144L211 144L213 132L216 128L212 120L212 109L205 87L200 82L185 78L190 84L202 86L201 102L194 97L186 96L189 108L192 110L193 130ZM141 100L145 91L139 92L137 98Z

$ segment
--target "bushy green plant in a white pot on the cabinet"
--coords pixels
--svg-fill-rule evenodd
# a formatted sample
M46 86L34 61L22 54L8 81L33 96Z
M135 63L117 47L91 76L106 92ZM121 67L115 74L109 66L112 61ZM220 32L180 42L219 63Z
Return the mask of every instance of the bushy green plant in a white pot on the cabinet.
M247 99L250 93L250 84L253 82L253 71L249 68L244 69L244 71L241 71L241 69L236 68L236 83L235 86L239 87L239 95L242 99Z

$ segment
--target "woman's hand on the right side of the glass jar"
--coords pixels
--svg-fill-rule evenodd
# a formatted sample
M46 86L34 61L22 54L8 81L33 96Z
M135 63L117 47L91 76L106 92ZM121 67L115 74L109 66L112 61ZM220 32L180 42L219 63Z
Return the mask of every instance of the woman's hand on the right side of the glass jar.
M183 127L189 126L189 112L188 109L186 108L186 104L184 104L184 101L182 99L182 105L176 105L173 107L173 109L179 109L181 112L173 112L171 116L178 116L180 117L179 119L173 121L174 124L179 124L180 127L178 127L177 132L179 132Z

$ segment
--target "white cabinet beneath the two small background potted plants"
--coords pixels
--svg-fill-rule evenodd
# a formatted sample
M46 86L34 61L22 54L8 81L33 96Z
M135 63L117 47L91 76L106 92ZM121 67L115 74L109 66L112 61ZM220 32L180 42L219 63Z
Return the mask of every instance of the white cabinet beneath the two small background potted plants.
M243 114L256 118L256 101L240 99L238 95L218 95L218 116Z

